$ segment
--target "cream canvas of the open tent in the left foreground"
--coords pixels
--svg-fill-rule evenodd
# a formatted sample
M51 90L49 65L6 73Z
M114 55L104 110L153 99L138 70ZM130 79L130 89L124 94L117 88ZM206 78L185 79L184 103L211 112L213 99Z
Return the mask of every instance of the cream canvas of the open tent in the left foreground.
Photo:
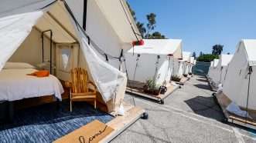
M90 23L87 19L90 23L87 26L93 25L89 28L91 35L94 30L97 35L102 33L106 35L101 39L95 38L96 41L93 36L89 40L90 35L84 32L80 21L77 20L80 19L78 15L80 7L77 3L67 1L68 5L66 1L53 0L2 1L0 6L0 71L6 62L27 62L37 65L50 61L52 65L50 68L53 68L51 71L56 73L57 78L65 81L69 80L70 68L83 67L87 69L90 78L97 86L104 103L108 107L114 105L114 108L108 109L118 110L125 95L127 78L124 73L118 71L118 68L105 62L105 58L116 58L115 54L120 55L120 48L127 47L129 42L131 47L131 42L139 38L134 33L138 30L133 27L134 22L131 19L124 20L127 18L127 13L122 8L124 5L125 8L127 7L124 1L111 2L111 5L118 5L115 8L110 8L110 5L105 5L108 2L100 0L88 2L91 2L89 5L95 6L94 10L99 9L90 15L104 15L104 18L99 18L101 22L98 23ZM103 28L104 24L107 28ZM115 28L116 25L121 25L121 27ZM105 31L99 29L105 29ZM114 36L115 41L112 41L111 36ZM42 37L44 42L42 42ZM101 42L101 40L104 41ZM111 42L116 45L111 46L109 44ZM118 52L115 53L116 51Z

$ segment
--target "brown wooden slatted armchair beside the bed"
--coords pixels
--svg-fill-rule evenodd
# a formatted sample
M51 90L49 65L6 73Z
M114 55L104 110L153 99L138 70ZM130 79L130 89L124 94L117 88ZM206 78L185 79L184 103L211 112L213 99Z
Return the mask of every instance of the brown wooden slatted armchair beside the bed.
M73 68L70 70L71 82L66 85L70 88L70 111L72 111L72 101L94 101L96 108L97 88L92 81L88 81L87 71L83 68ZM89 88L92 85L93 88Z

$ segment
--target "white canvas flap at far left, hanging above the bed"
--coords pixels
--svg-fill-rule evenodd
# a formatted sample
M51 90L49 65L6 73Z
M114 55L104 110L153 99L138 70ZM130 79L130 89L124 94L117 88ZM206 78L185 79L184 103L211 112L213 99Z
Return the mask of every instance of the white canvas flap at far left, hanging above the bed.
M0 71L42 15L43 12L31 12L0 18Z

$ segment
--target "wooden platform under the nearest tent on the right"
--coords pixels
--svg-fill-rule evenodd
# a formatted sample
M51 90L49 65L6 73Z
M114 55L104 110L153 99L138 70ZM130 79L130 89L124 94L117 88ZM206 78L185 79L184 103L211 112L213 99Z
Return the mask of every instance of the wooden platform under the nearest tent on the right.
M244 118L238 115L234 115L233 113L230 113L227 111L227 106L231 103L230 98L227 97L227 95L224 95L224 93L219 93L215 95L215 98L217 99L218 104L220 105L220 108L224 112L225 117L227 118L227 121L230 123L234 123L236 125L241 125L246 128L252 128L256 130L256 111L248 110L248 114L251 116L251 118ZM246 110L244 108L241 108L243 110Z

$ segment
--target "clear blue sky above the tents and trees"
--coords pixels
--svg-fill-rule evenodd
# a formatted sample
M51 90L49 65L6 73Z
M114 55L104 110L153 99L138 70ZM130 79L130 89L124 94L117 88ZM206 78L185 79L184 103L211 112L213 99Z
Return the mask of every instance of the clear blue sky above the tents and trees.
M183 51L234 53L241 38L256 38L256 0L128 0L138 21L156 14L155 31L183 39Z

